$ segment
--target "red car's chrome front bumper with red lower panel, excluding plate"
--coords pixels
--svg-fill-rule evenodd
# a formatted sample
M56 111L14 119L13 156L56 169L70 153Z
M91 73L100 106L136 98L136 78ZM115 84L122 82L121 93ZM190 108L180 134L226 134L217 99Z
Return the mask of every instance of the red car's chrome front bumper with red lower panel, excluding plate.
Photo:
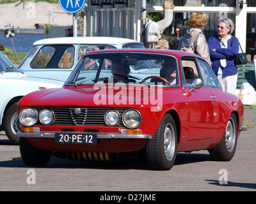
M68 133L68 132L65 132ZM81 132L70 132L81 134ZM86 132L86 135L90 133ZM16 135L33 146L53 152L134 152L143 149L152 140L147 134L92 133L97 135L97 144L56 143L55 132L23 133Z

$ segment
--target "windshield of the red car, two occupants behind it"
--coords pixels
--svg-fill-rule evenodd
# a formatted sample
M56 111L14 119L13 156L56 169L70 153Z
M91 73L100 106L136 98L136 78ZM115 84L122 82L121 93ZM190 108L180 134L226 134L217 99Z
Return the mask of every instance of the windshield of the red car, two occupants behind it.
M177 60L172 55L141 52L84 55L65 85L147 82L178 85Z

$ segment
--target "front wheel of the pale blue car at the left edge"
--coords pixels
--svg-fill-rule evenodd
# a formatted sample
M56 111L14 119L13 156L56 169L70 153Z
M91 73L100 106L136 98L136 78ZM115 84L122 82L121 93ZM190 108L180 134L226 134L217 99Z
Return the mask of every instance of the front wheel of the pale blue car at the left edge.
M14 145L19 145L19 137L15 133L20 131L17 103L13 103L4 114L3 127L6 136Z

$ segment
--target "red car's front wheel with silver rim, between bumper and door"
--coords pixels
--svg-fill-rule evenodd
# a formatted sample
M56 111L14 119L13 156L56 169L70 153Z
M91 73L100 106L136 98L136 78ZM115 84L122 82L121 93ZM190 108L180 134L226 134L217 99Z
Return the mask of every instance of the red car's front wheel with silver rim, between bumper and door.
M146 146L146 156L153 170L172 168L177 156L177 129L172 115L164 115L153 139Z

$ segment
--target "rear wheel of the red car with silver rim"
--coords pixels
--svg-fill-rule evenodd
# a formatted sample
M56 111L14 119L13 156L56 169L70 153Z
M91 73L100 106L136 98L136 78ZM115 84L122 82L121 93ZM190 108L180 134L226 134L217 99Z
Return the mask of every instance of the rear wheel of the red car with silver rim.
M237 127L236 115L232 113L220 143L214 149L209 150L209 154L214 161L230 161L232 159L236 152Z

